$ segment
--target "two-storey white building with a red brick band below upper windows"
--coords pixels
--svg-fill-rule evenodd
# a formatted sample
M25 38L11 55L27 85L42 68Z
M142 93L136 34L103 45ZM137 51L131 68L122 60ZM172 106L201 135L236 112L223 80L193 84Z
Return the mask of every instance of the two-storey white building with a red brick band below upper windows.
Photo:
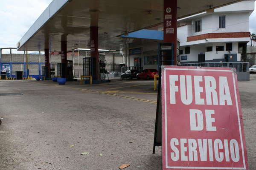
M181 63L246 61L253 10L248 0L178 20Z

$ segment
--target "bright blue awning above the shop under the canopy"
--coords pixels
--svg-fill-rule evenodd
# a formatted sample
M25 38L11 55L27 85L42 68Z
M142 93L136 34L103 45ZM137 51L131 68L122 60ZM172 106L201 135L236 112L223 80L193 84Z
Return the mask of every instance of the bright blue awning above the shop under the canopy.
M128 33L128 35L120 35L119 37L163 40L163 31L142 29L139 31Z

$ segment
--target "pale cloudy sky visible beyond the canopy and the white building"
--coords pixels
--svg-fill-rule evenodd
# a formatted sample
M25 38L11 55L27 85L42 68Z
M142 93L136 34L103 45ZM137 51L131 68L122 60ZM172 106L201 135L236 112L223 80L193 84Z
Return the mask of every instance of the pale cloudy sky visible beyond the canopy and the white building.
M16 48L17 42L51 2L52 0L0 0L0 48ZM256 9L256 3L254 8ZM250 15L249 31L256 34L256 10Z

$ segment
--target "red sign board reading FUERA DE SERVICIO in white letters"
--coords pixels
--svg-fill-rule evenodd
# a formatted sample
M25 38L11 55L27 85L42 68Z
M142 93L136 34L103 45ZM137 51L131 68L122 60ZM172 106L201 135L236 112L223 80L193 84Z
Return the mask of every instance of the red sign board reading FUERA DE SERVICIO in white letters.
M248 170L236 72L163 66L163 170Z

